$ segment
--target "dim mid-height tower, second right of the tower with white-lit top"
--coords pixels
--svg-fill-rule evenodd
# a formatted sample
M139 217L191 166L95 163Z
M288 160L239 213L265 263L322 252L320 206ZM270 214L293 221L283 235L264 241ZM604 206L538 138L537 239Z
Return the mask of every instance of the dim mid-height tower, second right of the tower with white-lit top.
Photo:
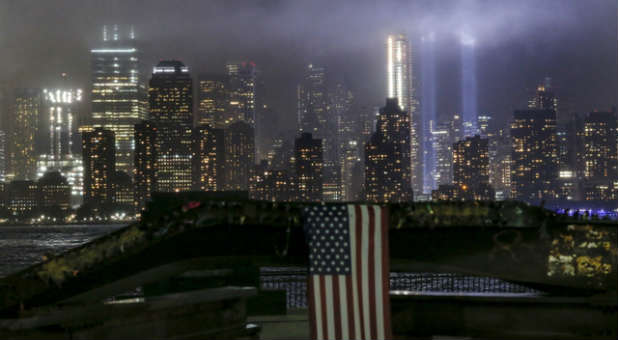
M255 166L255 135L253 127L238 121L227 127L225 139L226 190L246 191Z

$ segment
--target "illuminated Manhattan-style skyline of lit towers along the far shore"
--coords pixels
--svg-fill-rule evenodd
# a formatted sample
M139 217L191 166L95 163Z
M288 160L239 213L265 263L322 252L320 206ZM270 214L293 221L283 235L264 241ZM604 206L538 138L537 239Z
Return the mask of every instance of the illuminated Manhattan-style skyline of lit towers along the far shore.
M219 10L236 8L230 6ZM472 15L468 7L455 9ZM286 73L295 81L289 96L288 82L272 81L290 65L272 69L279 56L228 53L223 64L208 63L215 71L203 72L204 64L196 70L186 61L190 56L153 63L165 39L153 45L150 30L133 23L102 25L82 51L89 58L85 83L61 72L60 85L42 81L4 92L4 118L10 122L5 129L11 132L2 155L7 178L45 177L41 183L70 187L72 208L84 203L99 213L93 204L100 196L110 207L135 208L137 215L154 192L192 190L247 192L273 201L618 200L615 108L595 103L578 111L586 101L569 92L578 84L564 83L547 66L508 94L503 104L511 107L483 111L499 99L487 95L489 85L517 78L483 81L495 66L483 61L489 36L474 25L426 29L423 35L406 31L368 35L381 43L367 40L364 47L375 47L371 54L381 51L383 58L356 72L337 66L339 55L332 51L330 57L325 50L307 53L302 67ZM505 35L505 41L513 39ZM196 46L193 53L199 51ZM545 52L537 59L551 54L549 45L539 51ZM380 64L379 78L358 83ZM294 102L292 110L282 104L286 101ZM457 109L444 112L445 105ZM7 116L13 113L14 120ZM88 137L94 131L113 136L104 149ZM73 150L80 139L74 137L82 137L82 155ZM101 157L106 162L98 165ZM599 166L603 169L594 169ZM59 173L50 175L54 171ZM13 191L28 187L19 185Z

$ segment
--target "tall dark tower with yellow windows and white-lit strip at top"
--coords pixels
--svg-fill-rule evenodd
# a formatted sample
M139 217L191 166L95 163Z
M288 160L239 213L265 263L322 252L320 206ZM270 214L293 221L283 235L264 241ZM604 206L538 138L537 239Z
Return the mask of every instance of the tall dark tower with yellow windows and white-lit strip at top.
M150 120L136 125L138 208L152 191L191 190L193 84L189 68L176 60L159 62L149 82L148 102ZM153 145L143 144L152 139Z

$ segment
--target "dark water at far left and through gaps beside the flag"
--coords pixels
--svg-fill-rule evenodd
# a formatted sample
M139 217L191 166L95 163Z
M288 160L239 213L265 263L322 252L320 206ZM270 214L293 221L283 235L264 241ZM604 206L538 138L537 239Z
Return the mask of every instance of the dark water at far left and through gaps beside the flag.
M101 237L123 225L58 225L0 227L0 277ZM290 309L307 306L307 274L302 267L260 270L261 289L285 290ZM538 294L531 288L496 278L453 273L391 273L392 293ZM139 289L138 289L139 291Z

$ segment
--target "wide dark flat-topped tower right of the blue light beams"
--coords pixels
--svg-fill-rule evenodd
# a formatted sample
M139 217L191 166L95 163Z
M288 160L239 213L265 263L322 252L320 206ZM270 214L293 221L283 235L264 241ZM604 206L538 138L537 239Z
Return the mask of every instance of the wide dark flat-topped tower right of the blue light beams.
M512 197L528 202L554 198L558 177L556 111L515 111L511 141Z

